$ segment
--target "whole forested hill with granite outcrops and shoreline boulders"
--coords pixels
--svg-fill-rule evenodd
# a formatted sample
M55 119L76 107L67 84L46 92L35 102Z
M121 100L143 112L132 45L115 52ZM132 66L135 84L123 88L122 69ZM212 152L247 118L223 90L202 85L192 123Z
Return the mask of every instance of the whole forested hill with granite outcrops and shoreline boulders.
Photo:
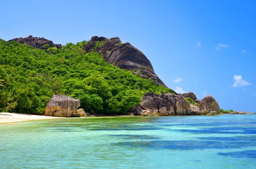
M0 90L0 112L57 117L233 112L220 109L210 95L199 100L192 92L169 89L145 54L119 37L94 36L66 46L31 35L0 39Z

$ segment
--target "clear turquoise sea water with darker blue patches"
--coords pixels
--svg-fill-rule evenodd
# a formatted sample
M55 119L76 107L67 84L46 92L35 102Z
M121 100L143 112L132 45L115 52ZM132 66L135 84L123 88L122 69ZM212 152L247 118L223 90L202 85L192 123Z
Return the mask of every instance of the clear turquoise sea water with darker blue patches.
M0 169L255 169L256 115L0 125Z

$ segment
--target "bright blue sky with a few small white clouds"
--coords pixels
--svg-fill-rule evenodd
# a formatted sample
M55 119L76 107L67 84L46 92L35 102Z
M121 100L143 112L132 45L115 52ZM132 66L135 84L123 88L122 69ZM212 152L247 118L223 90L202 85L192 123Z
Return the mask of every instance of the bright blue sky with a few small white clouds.
M256 112L255 9L254 0L8 0L0 4L0 38L31 34L65 45L119 37L176 92Z

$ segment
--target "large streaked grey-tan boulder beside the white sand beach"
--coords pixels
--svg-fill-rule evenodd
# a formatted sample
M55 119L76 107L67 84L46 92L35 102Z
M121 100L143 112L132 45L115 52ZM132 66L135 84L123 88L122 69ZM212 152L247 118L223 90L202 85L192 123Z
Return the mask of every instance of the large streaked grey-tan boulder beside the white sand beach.
M71 117L76 114L76 109L80 106L80 100L65 95L53 95L51 101L47 103L45 116Z

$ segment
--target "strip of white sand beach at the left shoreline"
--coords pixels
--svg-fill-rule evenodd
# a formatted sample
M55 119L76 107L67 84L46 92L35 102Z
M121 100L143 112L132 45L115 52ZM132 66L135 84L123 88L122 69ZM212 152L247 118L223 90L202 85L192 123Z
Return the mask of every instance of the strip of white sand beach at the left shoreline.
M21 113L0 113L0 124L26 121L26 120L41 120L41 119L52 119L52 118L64 118L64 117L28 115L28 114L21 114Z

